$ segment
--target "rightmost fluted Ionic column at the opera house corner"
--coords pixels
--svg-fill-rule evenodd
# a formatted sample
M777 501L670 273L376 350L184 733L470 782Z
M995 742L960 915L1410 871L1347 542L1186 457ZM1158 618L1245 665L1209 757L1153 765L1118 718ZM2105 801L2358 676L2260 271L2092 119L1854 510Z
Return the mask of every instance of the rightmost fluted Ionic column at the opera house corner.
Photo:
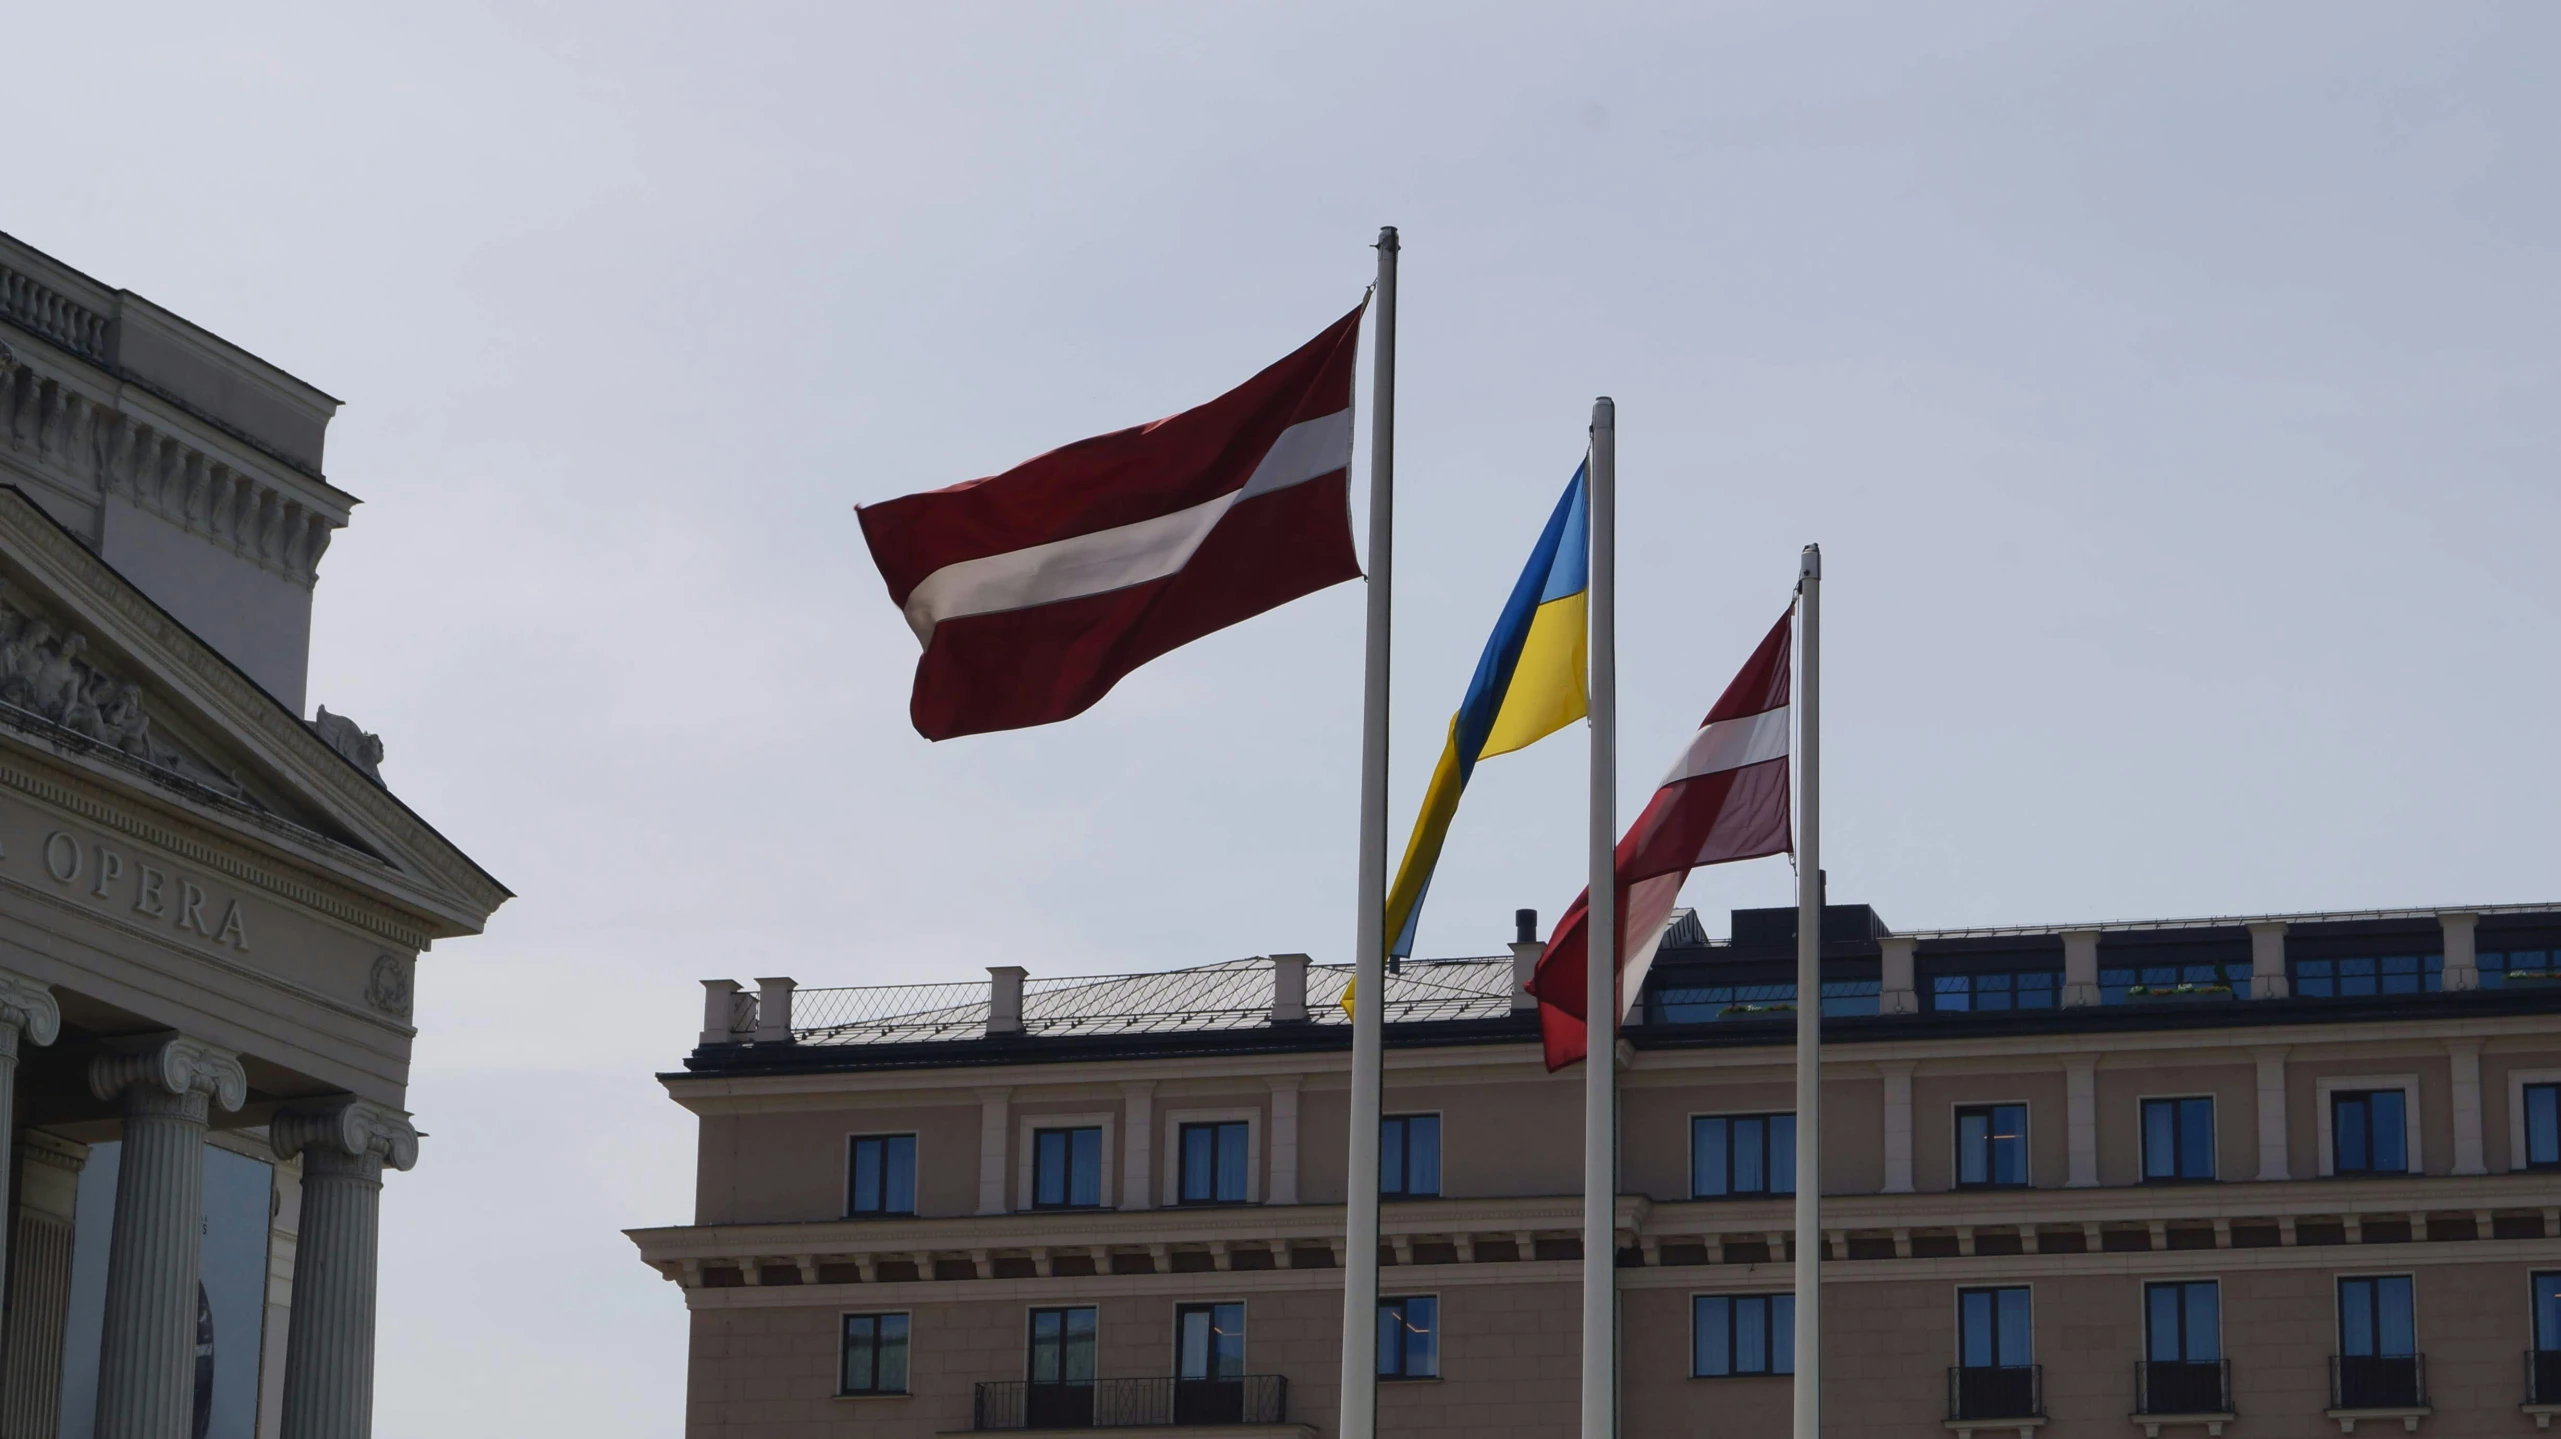
M348 1096L284 1109L266 1134L279 1160L302 1157L284 1439L366 1439L374 1434L382 1165L415 1165L417 1129L397 1109Z

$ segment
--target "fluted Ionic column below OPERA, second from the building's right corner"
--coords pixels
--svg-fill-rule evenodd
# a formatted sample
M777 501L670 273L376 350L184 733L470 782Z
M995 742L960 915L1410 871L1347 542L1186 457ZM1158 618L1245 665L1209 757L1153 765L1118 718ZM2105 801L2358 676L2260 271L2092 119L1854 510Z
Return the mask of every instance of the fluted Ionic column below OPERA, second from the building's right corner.
M90 1093L120 1098L123 1165L97 1344L97 1439L187 1439L205 1255L205 1111L248 1101L241 1060L184 1034L113 1045Z

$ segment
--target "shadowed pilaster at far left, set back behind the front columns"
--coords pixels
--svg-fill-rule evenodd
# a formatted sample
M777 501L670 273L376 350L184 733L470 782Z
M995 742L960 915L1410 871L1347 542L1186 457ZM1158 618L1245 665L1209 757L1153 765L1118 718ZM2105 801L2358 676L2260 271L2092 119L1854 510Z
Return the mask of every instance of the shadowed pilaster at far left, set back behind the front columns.
M61 1434L61 1344L72 1321L72 1216L90 1147L28 1129L18 1145L0 1439Z

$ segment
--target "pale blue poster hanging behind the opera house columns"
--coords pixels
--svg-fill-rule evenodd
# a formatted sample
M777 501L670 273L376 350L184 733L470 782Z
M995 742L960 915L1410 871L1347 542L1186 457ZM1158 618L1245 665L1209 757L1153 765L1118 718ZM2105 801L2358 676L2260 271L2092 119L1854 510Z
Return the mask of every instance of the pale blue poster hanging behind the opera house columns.
M123 1145L90 1150L72 1229L72 1324L61 1360L61 1439L92 1439L97 1337L108 1306L108 1242ZM274 1168L205 1147L205 1265L195 1311L192 1439L256 1439L259 1362L266 1339L266 1234ZM284 1355L277 1355L284 1362Z

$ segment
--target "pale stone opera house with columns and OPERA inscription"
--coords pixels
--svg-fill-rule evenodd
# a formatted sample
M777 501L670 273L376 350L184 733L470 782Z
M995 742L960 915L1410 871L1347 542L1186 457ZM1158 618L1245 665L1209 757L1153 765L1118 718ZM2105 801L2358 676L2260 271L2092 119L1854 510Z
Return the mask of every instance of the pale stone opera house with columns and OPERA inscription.
M0 236L0 1439L371 1431L420 955L507 891L305 717L335 407Z

